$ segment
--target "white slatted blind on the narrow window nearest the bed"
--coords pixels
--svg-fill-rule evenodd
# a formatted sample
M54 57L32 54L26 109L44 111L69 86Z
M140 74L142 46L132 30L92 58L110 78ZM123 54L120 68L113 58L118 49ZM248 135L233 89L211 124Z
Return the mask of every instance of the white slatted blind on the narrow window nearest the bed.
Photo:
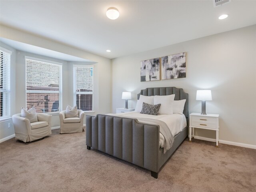
M93 109L93 66L74 65L74 102L78 109Z

